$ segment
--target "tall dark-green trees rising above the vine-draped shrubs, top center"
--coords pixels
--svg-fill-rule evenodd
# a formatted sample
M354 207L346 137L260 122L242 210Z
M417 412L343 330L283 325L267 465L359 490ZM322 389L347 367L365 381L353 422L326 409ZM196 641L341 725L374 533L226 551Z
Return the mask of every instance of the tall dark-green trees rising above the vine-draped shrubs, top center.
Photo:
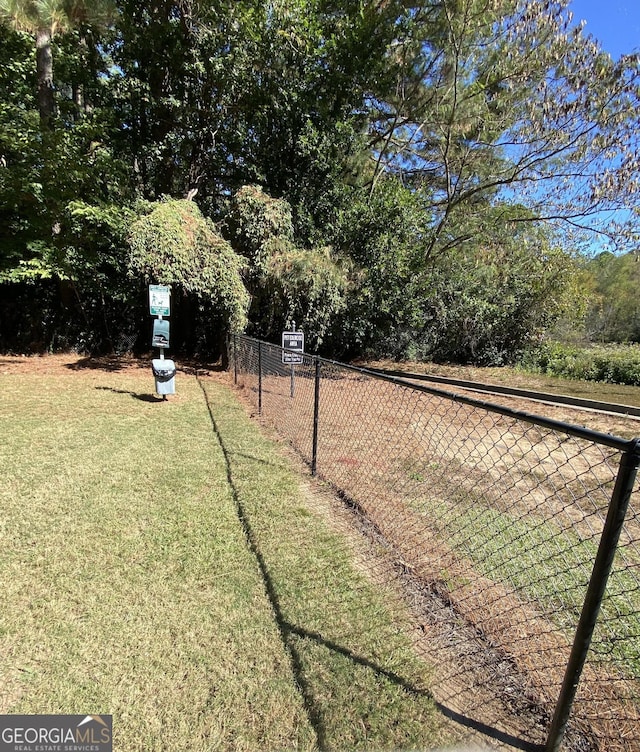
M313 216L328 178L365 153L363 82L392 36L374 7L124 0L113 83L144 196L196 195L213 216L259 184Z

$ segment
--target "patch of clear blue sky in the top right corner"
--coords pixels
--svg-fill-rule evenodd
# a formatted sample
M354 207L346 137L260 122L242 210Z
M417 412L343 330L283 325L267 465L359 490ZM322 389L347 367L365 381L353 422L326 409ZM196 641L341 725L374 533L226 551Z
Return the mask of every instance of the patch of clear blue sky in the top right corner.
M571 0L569 10L614 60L640 52L640 0Z

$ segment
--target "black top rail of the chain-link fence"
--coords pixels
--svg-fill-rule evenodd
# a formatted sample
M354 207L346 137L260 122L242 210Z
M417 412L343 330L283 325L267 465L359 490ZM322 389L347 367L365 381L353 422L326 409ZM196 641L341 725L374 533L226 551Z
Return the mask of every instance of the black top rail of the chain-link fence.
M264 342L263 340L258 340L254 337L248 337L244 334L237 336L239 336L241 339L249 340L256 344L268 345L269 347L273 347L277 350L283 349L279 345L274 345L271 342ZM451 400L452 402L460 402L471 407L477 407L482 410L486 410L487 412L498 413L499 415L504 415L505 417L524 421L525 423L531 423L533 425L541 426L543 428L549 428L553 431L565 433L569 436L574 436L579 439L585 439L595 444L603 444L605 446L612 447L613 449L617 449L625 454L628 453L632 455L635 459L635 465L640 466L640 437L625 439L621 436L615 436L614 434L603 433L601 431L594 431L590 428L573 425L571 423L564 423L563 421L555 420L554 418L546 418L542 415L536 415L535 413L529 413L524 410L514 410L513 408L505 407L503 405L496 405L493 402L487 402L486 400L480 400L475 397L468 397L464 394L450 392L446 389L439 389L438 387L427 386L425 384L409 383L397 376L380 373L379 371L372 371L367 368L362 368L361 366L341 363L338 360L331 360L330 358L322 358L319 355L312 355L310 353L304 353L304 355L305 357L310 358L314 361L319 361L320 363L325 363L337 368L343 368L348 371L360 373L372 379L387 381L404 389L411 389L415 392L432 394L437 397L442 397L443 399Z

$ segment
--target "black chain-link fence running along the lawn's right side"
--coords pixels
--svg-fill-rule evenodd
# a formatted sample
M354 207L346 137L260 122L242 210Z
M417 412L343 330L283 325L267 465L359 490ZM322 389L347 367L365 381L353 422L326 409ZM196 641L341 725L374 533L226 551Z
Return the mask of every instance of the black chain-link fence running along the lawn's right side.
M443 604L466 668L435 684L471 695L484 661L521 748L640 750L640 441L282 355L236 336L230 368Z

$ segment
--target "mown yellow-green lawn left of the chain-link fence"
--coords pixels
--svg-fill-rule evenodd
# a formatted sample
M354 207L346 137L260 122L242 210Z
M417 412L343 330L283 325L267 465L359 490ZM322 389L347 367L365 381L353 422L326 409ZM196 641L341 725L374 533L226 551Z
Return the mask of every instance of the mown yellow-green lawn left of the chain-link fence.
M213 378L0 368L0 713L114 750L430 749L397 610Z

